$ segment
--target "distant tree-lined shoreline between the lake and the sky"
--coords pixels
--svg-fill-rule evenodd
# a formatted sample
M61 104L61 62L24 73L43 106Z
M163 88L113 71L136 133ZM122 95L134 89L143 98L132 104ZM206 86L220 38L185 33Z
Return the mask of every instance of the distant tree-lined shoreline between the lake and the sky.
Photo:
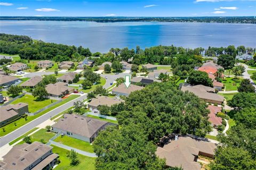
M197 17L71 17L71 16L0 16L0 20L19 21L92 21L92 22L199 22L256 24L255 16L197 16Z

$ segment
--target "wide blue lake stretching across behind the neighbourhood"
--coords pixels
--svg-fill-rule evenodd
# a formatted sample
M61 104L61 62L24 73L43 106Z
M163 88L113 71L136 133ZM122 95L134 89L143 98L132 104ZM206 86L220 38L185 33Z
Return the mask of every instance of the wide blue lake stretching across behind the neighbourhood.
M49 43L88 47L106 53L111 47L151 46L256 47L256 24L86 21L0 21L1 33L27 35Z

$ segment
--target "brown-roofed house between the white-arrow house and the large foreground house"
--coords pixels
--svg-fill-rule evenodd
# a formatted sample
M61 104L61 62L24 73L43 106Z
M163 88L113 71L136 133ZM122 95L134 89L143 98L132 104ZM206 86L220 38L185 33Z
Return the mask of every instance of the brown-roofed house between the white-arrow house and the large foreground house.
M97 98L93 98L90 103L88 104L89 108L92 109L98 109L99 106L102 105L106 105L108 107L115 105L115 104L119 104L124 102L123 99L119 99L119 98L111 98L111 97L107 97L107 96L98 96Z

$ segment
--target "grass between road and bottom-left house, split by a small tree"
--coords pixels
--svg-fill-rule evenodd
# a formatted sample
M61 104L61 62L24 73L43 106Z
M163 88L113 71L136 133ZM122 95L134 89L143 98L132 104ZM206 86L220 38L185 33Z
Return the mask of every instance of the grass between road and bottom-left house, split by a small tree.
M36 133L30 135L31 142L40 142L41 139L44 140L45 143L47 143L52 137L54 137L55 133L52 132L46 132L46 129L40 129ZM17 145L21 145L25 143L24 141L19 142Z

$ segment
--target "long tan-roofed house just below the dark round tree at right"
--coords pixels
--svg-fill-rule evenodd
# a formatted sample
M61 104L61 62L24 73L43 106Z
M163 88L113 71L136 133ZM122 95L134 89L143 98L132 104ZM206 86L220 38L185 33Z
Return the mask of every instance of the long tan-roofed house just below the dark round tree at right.
M197 85L197 86L185 86L181 87L182 91L192 92L194 95L205 100L207 103L213 103L221 105L224 101L224 97L218 94L214 94L215 90L211 87Z

